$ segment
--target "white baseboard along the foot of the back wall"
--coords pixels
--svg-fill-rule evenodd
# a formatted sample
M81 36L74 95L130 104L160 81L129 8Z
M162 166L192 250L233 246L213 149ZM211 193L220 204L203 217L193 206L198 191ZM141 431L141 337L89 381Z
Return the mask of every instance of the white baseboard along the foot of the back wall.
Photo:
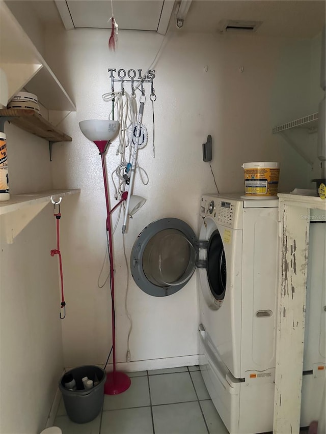
M194 366L199 363L199 355L194 354L190 356L179 357L165 357L162 359L150 359L150 360L137 360L131 362L120 362L116 364L118 370L124 372L137 372L146 371L152 369L164 369L164 368L179 368L180 366ZM102 368L104 365L99 365ZM106 367L107 371L111 371L113 364L109 363Z

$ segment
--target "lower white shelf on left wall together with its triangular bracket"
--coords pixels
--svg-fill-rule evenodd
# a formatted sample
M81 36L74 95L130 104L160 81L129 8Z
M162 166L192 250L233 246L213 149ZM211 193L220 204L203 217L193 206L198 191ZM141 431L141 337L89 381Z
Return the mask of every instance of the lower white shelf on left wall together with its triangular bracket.
M57 201L60 197L79 192L79 189L70 189L16 194L11 195L10 200L0 202L0 225L6 242L13 243L24 227L49 204L51 196Z

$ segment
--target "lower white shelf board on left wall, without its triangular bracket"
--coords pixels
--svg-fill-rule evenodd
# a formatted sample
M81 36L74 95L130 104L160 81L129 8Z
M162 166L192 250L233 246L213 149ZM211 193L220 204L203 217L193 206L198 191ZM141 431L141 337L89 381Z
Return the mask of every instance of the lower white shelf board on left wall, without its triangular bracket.
M53 196L53 200L58 200L59 197L64 197L79 192L80 189L76 188L71 190L49 190L42 191L40 193L13 194L9 200L0 202L0 215L8 214L13 211L19 211L23 208L34 205L46 205L51 201L51 196Z

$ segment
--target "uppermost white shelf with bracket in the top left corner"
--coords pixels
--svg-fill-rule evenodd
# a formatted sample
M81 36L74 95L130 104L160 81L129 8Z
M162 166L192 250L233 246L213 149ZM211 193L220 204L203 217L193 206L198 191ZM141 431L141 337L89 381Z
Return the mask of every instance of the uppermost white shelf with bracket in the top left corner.
M49 110L76 111L75 104L4 1L0 1L0 41L0 66L7 73L10 94L25 86ZM10 73L13 69L19 73ZM39 72L35 75L36 71Z

